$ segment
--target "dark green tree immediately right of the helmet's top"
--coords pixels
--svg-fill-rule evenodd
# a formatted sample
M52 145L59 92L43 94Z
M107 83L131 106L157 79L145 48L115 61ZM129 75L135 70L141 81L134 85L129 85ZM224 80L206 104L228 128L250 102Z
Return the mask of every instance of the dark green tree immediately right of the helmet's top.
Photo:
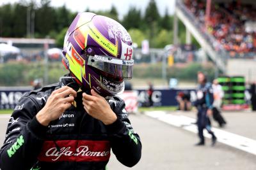
M131 28L140 28L142 21L141 21L141 12L137 10L134 6L130 6L128 13L124 16L122 21L122 25L125 29L129 30Z

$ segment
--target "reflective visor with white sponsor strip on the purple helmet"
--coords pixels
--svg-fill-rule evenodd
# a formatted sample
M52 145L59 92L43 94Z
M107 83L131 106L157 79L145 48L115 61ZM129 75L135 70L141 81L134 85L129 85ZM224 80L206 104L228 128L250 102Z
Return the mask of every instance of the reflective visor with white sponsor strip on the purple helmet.
M89 55L88 57L88 66L95 67L118 78L132 78L134 60L115 59L100 55Z

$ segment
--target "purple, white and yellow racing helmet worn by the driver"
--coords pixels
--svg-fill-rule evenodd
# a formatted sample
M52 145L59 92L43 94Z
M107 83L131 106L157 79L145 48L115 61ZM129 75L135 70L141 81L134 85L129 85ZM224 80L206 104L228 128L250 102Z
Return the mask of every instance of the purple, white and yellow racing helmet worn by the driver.
M79 13L65 35L62 62L83 90L121 94L124 80L132 78L131 36L111 18Z

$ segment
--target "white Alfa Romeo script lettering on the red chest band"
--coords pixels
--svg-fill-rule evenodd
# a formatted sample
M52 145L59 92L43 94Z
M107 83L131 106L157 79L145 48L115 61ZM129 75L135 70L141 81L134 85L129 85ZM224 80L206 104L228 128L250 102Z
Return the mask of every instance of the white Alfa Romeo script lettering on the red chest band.
M60 149L60 152L56 148L50 148L45 152L46 157L54 157L52 158L53 161L60 159L60 157L63 156L85 156L85 157L106 157L109 155L109 151L106 152L92 152L89 150L88 146L79 146L79 148L76 149L76 153L74 153L72 150L70 150L70 146L63 147Z

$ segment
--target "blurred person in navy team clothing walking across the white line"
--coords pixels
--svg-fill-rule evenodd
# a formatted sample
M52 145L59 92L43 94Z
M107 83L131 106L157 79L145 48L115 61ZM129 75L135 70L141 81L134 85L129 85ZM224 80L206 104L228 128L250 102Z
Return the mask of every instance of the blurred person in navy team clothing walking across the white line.
M209 119L209 115L212 115L213 108L212 87L211 83L207 83L207 78L204 73L198 72L197 78L199 86L196 90L197 99L193 104L198 110L196 124L198 126L198 136L200 138L200 141L196 143L196 145L205 145L203 131L204 129L206 129L212 136L212 146L214 146L217 138L214 135L214 132L211 131L211 122Z

